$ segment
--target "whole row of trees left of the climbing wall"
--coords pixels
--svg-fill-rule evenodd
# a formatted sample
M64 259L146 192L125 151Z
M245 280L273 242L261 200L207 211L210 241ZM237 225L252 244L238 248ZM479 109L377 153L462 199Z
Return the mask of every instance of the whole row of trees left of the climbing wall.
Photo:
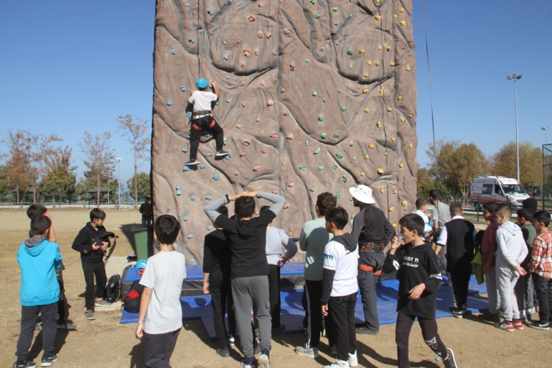
M116 121L117 131L130 145L134 157L134 175L126 185L136 205L138 199L150 195L149 173L138 172L140 164L149 160L148 121L132 119L132 115L121 115ZM1 157L4 164L0 164L0 201L19 204L93 198L99 205L109 196L101 195L101 188L113 190L113 197L117 197L118 189L124 191L124 187L115 177L117 157L110 140L108 131L84 132L78 146L86 170L77 182L72 148L64 145L61 138L8 130L8 137L2 141L8 153Z

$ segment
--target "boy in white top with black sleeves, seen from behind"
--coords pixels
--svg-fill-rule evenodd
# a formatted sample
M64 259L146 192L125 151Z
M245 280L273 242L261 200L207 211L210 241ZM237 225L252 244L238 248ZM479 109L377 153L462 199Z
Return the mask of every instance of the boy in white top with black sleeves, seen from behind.
M324 368L356 367L357 338L355 332L355 304L358 292L358 245L343 229L348 213L336 207L326 213L326 231L333 239L324 249L322 277L322 315L331 313L337 360Z

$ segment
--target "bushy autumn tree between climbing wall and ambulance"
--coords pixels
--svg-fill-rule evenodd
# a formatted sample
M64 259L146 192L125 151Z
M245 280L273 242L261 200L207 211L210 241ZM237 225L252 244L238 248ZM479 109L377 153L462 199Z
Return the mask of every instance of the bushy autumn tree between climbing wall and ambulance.
M445 184L454 195L462 195L464 203L473 179L489 171L489 161L473 143L440 140L435 147L430 144L426 152L435 182Z

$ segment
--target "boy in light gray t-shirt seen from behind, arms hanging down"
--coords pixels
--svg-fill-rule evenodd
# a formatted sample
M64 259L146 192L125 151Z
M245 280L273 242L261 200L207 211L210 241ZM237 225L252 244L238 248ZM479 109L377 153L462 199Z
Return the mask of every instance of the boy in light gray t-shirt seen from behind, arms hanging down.
M179 235L180 224L174 216L157 217L153 238L159 242L159 253L148 259L140 280L144 292L136 328L137 338L144 336L146 340L147 367L169 367L182 328L180 293L182 280L186 278L186 260L172 246Z

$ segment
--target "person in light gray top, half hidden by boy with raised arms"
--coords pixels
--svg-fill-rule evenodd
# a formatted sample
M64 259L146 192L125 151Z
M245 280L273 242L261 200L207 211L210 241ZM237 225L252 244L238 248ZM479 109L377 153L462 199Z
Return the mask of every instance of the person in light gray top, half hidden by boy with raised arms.
M259 215L270 211L270 206L262 206ZM282 256L282 245L286 254ZM280 267L297 253L297 244L288 237L282 229L272 226L266 228L266 262L268 262L268 298L270 300L270 316L272 316L273 333L284 331L286 328L280 323Z

